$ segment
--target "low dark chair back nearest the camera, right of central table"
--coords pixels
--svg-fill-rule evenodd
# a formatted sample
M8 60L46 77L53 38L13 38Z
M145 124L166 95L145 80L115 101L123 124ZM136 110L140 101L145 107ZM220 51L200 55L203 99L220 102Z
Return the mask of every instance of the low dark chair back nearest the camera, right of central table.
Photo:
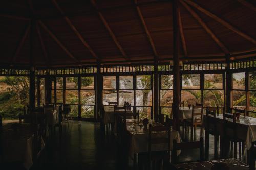
M183 149L200 149L200 161L204 161L204 139L200 137L200 141L194 142L183 142L177 143L177 141L173 140L173 150L172 150L172 163L181 163L178 162L177 151ZM194 162L194 161L190 161Z

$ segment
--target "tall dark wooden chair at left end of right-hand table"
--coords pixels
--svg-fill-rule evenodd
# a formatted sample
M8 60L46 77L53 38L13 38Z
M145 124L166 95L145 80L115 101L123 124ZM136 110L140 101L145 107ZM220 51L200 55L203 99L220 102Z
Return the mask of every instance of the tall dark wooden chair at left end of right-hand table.
M209 134L214 135L214 157L218 155L219 132L217 129L216 116L219 114L219 107L206 108L206 127L205 127L205 156L209 154Z

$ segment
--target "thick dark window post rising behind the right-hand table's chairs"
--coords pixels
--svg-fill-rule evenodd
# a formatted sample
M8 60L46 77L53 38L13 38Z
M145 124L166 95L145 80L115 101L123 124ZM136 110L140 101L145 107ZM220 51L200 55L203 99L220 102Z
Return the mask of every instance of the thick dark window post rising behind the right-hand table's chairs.
M232 73L230 70L230 58L229 55L226 55L226 113L231 113L232 107Z

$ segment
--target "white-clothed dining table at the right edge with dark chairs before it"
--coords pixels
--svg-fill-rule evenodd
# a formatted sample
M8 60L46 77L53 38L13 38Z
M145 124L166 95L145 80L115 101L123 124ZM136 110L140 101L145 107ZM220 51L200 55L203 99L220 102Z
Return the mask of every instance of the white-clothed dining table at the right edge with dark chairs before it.
M206 115L204 115L206 117ZM232 122L232 119L227 118ZM206 127L207 120L206 118L203 119L203 127ZM223 114L219 114L216 116L216 124L217 124L217 131L219 132L220 136L224 135L224 128L223 128ZM237 137L243 141L245 141L246 149L249 150L251 148L252 142L256 141L256 118L242 116L237 119L236 124L237 128Z

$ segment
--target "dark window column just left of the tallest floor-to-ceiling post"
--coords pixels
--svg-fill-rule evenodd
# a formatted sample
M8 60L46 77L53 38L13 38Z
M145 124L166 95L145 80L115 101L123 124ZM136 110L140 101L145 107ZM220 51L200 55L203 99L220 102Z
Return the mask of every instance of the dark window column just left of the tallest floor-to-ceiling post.
M154 120L159 118L159 75L158 75L158 61L154 63ZM153 118L153 117L151 117Z

